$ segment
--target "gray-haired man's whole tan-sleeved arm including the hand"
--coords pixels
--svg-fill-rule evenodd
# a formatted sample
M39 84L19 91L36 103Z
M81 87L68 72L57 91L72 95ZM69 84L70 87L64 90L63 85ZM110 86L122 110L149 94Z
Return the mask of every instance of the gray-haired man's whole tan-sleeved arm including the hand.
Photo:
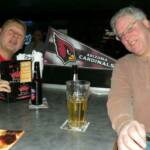
M134 120L131 82L128 63L117 63L108 96L108 115L113 129L118 133L119 150L144 150L146 131L144 125Z

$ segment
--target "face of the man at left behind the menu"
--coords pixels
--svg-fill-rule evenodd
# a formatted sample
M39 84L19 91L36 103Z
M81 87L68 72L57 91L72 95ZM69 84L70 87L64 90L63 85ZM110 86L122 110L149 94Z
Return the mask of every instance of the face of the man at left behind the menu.
M0 30L0 49L13 55L22 48L25 37L24 28L14 22Z

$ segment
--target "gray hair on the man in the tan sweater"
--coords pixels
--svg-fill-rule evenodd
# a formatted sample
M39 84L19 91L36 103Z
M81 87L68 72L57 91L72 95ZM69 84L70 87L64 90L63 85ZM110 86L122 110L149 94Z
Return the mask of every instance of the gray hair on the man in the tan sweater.
M123 16L131 16L136 20L143 20L147 18L146 14L139 8L136 8L134 6L122 8L110 20L110 26L115 34L117 34L115 27L116 21L118 20L118 18Z

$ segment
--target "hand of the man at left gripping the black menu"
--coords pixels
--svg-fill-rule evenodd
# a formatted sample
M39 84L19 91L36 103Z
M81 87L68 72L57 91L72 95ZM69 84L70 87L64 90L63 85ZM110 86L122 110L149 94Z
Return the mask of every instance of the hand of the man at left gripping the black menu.
M6 80L0 80L0 92L11 92L11 88L9 82Z

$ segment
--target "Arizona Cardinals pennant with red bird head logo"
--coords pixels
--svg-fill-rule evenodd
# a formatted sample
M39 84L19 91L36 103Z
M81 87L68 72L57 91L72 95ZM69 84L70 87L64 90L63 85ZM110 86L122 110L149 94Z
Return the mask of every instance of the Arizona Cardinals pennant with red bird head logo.
M45 65L77 64L93 69L112 69L115 59L49 27L44 55Z

